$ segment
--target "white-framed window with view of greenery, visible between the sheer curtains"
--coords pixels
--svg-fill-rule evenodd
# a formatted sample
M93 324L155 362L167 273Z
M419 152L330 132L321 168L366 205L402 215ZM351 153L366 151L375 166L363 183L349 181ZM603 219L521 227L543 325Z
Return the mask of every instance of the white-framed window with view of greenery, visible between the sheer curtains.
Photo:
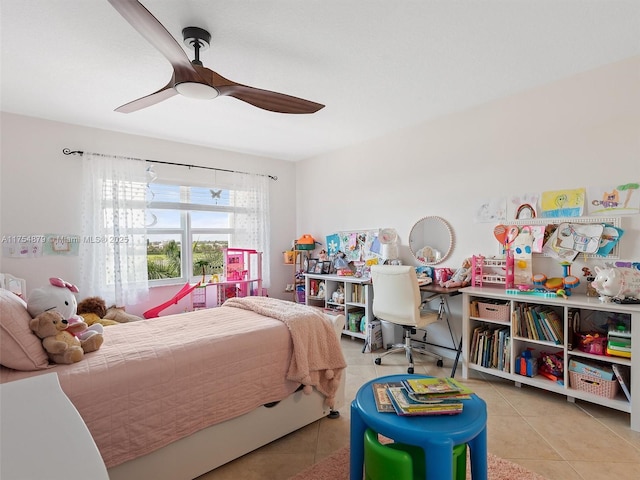
M151 284L222 273L234 233L235 192L153 183L147 194L147 269ZM187 247L188 248L185 248Z

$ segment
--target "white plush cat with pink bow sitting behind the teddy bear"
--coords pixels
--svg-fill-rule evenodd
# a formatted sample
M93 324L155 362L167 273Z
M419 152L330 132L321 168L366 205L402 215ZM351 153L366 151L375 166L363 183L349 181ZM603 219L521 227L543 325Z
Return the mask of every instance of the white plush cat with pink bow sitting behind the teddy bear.
M100 348L104 341L104 328L98 323L88 326L83 318L77 315L78 301L74 295L77 292L78 287L75 285L61 278L50 278L49 285L36 288L29 294L27 310L34 318L43 312L60 313L68 322L67 331L83 343L85 353L93 352Z

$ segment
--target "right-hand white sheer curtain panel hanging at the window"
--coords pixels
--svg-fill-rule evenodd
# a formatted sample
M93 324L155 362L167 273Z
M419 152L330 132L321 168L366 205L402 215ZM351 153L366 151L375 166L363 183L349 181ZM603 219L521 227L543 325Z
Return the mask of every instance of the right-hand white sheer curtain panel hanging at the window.
M262 252L262 284L269 288L271 274L269 252L269 182L265 175L234 174L230 202L239 211L233 216L234 233L230 247L250 248Z

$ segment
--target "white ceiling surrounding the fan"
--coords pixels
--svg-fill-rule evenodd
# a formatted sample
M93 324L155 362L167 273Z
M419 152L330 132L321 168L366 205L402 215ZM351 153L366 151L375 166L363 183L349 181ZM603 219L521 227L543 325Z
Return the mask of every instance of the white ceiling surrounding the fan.
M107 0L0 0L2 110L295 161L640 54L640 0L141 3L180 45L209 30L222 76L326 107L178 95L116 113L171 67Z

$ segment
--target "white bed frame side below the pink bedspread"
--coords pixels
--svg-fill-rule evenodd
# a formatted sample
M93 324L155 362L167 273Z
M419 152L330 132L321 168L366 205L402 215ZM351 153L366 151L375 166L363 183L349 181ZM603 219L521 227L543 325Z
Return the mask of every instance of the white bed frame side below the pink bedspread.
M341 335L344 315L329 318ZM298 391L273 407L259 407L110 468L109 478L192 480L343 407L346 376L344 371L333 408L324 405L324 396L315 389L311 395Z

